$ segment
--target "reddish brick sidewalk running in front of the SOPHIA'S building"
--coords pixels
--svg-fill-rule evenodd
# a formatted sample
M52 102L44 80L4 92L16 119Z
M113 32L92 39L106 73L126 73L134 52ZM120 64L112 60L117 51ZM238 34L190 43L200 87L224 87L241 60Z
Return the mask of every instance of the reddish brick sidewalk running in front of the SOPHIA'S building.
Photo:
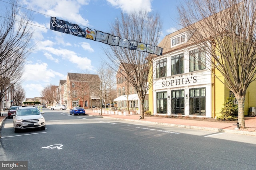
M172 127L182 127L182 128L188 128L188 129L200 129L200 130L206 130L206 131L227 132L227 133L256 136L256 117L245 117L245 125L247 128L235 130L235 128L237 128L237 123L197 121L197 120L187 120L187 119L171 119L171 118L164 118L164 117L147 117L147 116L145 116L144 119L140 119L140 115L127 115L127 116L111 115L111 114L99 115L99 113L93 112L90 109L86 109L86 114L88 114L89 116L104 117L108 119L134 121L134 122L140 122L140 123L157 124L157 125L165 125L165 126L172 126ZM0 116L0 127L2 127L3 121L7 118L6 115Z

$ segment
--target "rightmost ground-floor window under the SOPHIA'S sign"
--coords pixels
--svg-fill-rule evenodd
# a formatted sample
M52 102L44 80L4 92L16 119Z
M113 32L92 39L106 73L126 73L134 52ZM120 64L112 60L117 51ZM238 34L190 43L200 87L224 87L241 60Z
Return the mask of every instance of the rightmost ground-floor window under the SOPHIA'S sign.
M189 114L205 116L205 88L189 90Z

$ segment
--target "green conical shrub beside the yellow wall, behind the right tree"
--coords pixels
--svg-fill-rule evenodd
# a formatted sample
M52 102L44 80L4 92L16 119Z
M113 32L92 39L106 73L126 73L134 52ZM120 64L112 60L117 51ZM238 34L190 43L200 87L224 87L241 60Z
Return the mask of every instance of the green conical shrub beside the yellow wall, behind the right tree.
M238 116L238 105L234 104L236 98L232 95L223 104L224 107L221 109L220 113L222 115L216 117L217 120L236 120Z

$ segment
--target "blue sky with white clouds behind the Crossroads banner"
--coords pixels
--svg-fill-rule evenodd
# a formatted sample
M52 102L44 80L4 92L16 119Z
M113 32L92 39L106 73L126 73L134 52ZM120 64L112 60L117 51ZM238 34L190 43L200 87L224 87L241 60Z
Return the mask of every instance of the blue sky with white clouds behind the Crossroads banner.
M8 0L3 0L8 2ZM0 6L8 5L0 1ZM26 98L41 96L48 84L59 85L68 72L96 74L106 59L102 47L108 45L90 39L50 30L50 16L81 27L109 33L110 25L121 12L147 10L157 12L163 21L162 36L179 28L177 5L184 0L19 0L22 11L32 12L34 36L22 78ZM2 9L1 9L2 10ZM33 12L35 11L35 12Z

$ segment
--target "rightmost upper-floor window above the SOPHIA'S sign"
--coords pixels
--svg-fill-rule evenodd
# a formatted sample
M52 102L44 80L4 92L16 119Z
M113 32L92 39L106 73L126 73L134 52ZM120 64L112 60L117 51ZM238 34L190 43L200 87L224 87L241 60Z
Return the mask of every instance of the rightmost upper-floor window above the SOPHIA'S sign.
M205 52L200 49L189 51L189 71L205 69Z

